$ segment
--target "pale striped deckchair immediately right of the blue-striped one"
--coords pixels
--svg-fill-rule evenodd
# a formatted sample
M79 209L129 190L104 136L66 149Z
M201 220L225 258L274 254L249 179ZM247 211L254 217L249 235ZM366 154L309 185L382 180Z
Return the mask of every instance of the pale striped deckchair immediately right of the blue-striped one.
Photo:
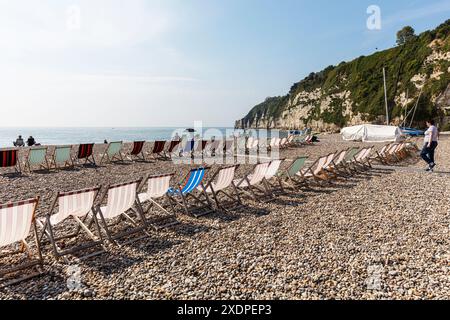
M212 176L209 182L205 184L205 192L212 195L217 210L228 211L242 205L239 192L233 182L238 168L239 165L230 165L220 168ZM202 191L201 186L197 189Z

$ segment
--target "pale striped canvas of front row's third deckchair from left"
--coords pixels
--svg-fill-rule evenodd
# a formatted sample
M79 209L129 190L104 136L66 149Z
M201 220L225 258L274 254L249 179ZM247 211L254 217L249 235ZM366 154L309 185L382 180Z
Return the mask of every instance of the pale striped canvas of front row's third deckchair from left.
M136 201L140 181L118 184L108 189L108 202L100 210L105 219L113 219L130 210Z

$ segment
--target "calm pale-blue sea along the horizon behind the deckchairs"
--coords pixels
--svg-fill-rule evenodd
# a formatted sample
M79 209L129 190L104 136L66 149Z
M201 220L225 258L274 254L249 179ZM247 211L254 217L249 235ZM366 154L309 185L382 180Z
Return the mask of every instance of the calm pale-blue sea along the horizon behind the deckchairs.
M13 146L13 141L20 134L25 139L33 136L42 145L65 145L79 143L103 143L107 141L155 141L171 139L176 131L183 134L180 128L0 128L0 148ZM203 128L203 138L212 136L230 136L233 132L243 132L233 128ZM255 134L255 133L254 133ZM267 131L260 130L261 137L267 136ZM256 134L255 134L256 135Z

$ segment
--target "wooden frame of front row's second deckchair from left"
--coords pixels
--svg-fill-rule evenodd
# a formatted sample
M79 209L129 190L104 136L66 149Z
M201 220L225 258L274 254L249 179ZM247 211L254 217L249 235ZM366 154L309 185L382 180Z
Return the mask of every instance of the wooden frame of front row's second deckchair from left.
M84 250L91 249L94 247L100 247L99 248L100 250L84 254L78 258L80 260L85 260L85 259L97 256L99 254L106 253L106 248L103 245L103 237L102 237L102 233L100 230L100 225L98 223L98 219L95 214L95 200L97 199L100 189L101 189L101 187L94 187L94 188L90 188L90 189L83 189L83 190L77 190L77 191L71 191L71 192L58 192L56 194L56 196L54 197L54 200L50 207L50 211L48 211L48 213L45 217L44 223L42 221L38 220L38 223L40 224L40 227L42 229L42 234L39 237L39 241L40 241L41 245L44 245L45 244L43 241L44 236L50 241L53 255L55 256L56 259L64 258L65 262L69 263L69 261L65 258L67 255L73 255L75 253L82 252ZM86 216L84 216L82 218L69 216L67 219L72 219L73 221L75 221L75 223L77 225L76 230L73 233L69 233L64 236L59 236L59 237L56 236L56 232L58 231L58 230L56 230L57 226L60 224L62 225L64 223L64 221L62 221L61 223L58 223L56 226L53 226L50 222L50 219L51 219L52 215L56 213L56 208L58 206L59 198L64 197L64 196L81 194L81 193L85 193L85 192L95 192L91 211L88 212L86 214ZM91 217L90 222L87 224L87 219L89 218L89 216L92 216L92 217ZM95 236L94 232L91 230L92 224L95 225L95 228L96 228L95 231L97 231L98 237ZM80 233L82 231L84 231L84 233L91 239L90 242L82 244L82 245L78 245L78 246L73 246L72 248L69 248L69 249L64 249L64 250L60 249L60 247L58 246L59 241L76 238L80 235Z

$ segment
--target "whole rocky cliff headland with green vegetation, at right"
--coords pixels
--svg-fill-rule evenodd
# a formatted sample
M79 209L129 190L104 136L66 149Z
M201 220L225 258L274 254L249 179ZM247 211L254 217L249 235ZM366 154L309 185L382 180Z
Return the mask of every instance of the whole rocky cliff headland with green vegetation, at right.
M255 106L237 128L339 131L347 125L385 123L382 69L388 73L392 124L417 105L415 124L450 115L450 20L401 47L312 73L288 95Z

